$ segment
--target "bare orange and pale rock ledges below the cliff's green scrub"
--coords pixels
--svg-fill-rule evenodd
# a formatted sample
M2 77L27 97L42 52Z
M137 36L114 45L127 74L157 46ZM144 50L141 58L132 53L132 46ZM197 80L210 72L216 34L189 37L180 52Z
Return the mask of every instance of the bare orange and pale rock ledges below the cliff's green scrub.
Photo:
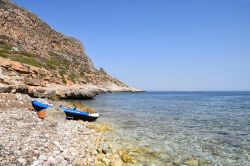
M46 77L41 78L39 75ZM100 84L62 84L53 81L49 71L0 57L0 93L24 93L50 99L92 99L107 92L142 92L142 90L102 82Z

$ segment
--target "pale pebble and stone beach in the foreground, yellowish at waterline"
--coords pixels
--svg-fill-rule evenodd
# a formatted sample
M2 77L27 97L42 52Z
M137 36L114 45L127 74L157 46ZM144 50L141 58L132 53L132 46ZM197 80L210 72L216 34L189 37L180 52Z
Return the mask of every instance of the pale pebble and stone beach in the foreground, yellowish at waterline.
M105 142L107 127L98 122L66 120L47 110L37 117L25 94L0 93L0 165L131 165ZM51 101L56 104L58 101ZM113 152L113 153L112 153Z

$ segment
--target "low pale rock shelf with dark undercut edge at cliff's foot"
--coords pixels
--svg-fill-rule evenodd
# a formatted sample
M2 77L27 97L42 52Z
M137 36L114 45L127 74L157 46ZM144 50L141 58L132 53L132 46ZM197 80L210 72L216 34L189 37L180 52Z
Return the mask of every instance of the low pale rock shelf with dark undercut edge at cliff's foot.
M131 87L119 87L116 85L49 85L35 87L27 85L4 85L0 83L0 93L23 93L31 97L48 99L93 99L102 93L138 93L143 92Z

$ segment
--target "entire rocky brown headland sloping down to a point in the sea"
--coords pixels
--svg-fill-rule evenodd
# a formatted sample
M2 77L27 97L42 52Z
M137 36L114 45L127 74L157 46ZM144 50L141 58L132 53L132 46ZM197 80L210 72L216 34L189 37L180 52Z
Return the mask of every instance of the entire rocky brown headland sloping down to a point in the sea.
M77 39L0 0L0 92L86 98L107 91L137 89L96 69Z

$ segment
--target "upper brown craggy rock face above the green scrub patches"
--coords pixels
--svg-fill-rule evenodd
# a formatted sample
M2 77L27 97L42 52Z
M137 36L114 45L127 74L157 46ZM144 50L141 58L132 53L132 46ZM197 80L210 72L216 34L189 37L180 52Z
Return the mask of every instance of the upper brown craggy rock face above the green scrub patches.
M0 5L1 42L45 58L49 52L58 52L69 61L96 70L80 41L55 31L24 8L3 0Z

